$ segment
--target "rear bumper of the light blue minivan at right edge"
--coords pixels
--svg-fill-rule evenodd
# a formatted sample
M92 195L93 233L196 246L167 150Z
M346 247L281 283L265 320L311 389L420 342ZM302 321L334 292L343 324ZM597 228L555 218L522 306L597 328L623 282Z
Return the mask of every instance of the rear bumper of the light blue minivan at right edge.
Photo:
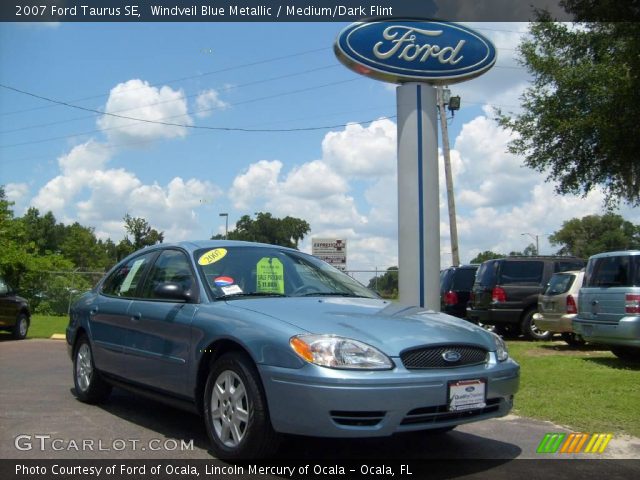
M640 316L622 317L617 323L576 317L573 331L590 343L640 348Z

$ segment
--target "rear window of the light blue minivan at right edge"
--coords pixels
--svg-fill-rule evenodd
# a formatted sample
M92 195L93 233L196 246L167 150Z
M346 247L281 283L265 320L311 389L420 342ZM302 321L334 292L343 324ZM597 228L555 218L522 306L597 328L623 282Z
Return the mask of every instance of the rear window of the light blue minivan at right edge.
M585 273L585 287L639 287L640 255L594 258Z

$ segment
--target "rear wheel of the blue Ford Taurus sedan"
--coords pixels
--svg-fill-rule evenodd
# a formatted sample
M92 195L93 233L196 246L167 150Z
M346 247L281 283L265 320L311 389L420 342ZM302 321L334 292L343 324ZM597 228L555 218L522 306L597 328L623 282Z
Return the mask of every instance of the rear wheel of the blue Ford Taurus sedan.
M73 384L78 400L84 403L100 403L111 394L111 385L96 370L91 344L84 335L73 352Z

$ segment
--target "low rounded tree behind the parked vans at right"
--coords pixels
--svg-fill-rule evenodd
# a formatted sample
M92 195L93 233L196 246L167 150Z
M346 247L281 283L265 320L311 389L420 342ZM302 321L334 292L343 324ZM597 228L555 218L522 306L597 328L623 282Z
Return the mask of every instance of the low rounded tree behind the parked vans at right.
M601 252L640 248L640 225L613 213L587 215L564 222L549 242L561 246L559 255L588 258Z

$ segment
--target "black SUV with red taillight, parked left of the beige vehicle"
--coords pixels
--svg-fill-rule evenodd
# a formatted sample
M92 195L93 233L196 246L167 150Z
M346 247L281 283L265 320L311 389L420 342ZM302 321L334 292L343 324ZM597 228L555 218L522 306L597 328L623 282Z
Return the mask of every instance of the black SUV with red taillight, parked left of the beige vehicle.
M506 257L487 260L478 269L467 308L472 322L495 325L500 333L522 333L546 340L551 332L538 329L533 314L538 295L556 272L580 270L585 261L576 257Z

